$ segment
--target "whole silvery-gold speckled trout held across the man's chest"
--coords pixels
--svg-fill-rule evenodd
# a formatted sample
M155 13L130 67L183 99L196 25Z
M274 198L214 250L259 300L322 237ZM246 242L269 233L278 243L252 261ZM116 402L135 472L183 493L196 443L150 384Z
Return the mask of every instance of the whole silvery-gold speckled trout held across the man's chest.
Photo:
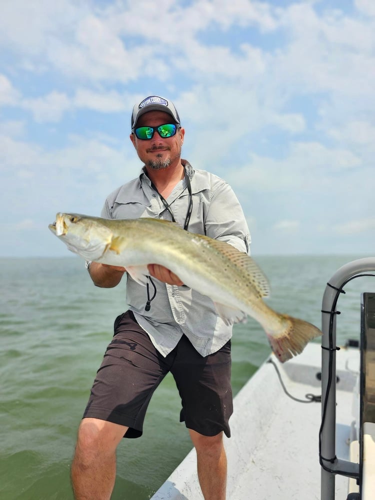
M185 286L207 295L226 324L253 317L263 327L281 362L300 353L321 331L311 323L280 314L263 297L269 285L246 253L229 243L188 232L174 222L154 218L104 219L57 213L50 230L87 260L121 265L140 284L147 264L161 264Z

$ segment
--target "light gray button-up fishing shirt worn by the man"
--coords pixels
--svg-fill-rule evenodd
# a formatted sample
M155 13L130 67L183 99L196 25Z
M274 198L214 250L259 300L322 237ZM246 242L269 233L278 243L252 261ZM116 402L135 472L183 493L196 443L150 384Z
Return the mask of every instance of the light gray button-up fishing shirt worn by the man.
M194 170L182 160L191 184L192 213L190 232L226 241L248 252L250 236L242 208L231 187L205 170ZM167 197L176 222L183 227L189 206L186 180L182 179ZM104 218L153 217L171 220L159 195L151 187L142 169L139 177L123 184L105 200ZM145 310L146 287L127 275L126 301L138 324L147 332L153 345L166 356L185 334L195 349L206 356L216 352L232 335L232 327L217 315L212 300L187 286L162 283L152 278L155 298ZM149 287L150 295L153 287Z

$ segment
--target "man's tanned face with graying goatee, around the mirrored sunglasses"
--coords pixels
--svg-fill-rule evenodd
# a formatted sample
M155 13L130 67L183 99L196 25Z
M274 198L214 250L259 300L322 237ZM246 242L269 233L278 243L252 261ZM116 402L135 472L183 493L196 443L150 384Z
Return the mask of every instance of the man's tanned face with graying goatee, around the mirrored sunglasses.
M164 123L173 123L173 118L169 113L148 111L140 116L136 126L151 126L156 128ZM171 137L160 137L157 130L155 130L151 139L138 139L132 133L130 140L136 149L139 159L147 167L158 170L166 168L175 161L179 161L184 133L183 128L177 128L176 133Z

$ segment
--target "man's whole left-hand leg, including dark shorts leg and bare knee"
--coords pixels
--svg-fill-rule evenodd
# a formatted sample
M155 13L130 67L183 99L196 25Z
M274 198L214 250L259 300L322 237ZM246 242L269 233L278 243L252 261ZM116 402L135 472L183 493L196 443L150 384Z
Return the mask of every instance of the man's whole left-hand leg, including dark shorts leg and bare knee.
M132 312L116 318L114 333L96 373L78 430L71 467L76 500L110 498L116 473L116 447L127 430L127 437L142 434L148 402L169 369ZM173 354L168 356L173 359Z

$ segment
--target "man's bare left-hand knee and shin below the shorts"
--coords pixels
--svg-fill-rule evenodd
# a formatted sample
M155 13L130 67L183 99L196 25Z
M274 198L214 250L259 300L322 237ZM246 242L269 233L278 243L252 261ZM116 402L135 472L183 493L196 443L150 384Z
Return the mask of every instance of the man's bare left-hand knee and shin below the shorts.
M83 418L71 465L76 500L109 500L116 476L116 447L128 427Z

